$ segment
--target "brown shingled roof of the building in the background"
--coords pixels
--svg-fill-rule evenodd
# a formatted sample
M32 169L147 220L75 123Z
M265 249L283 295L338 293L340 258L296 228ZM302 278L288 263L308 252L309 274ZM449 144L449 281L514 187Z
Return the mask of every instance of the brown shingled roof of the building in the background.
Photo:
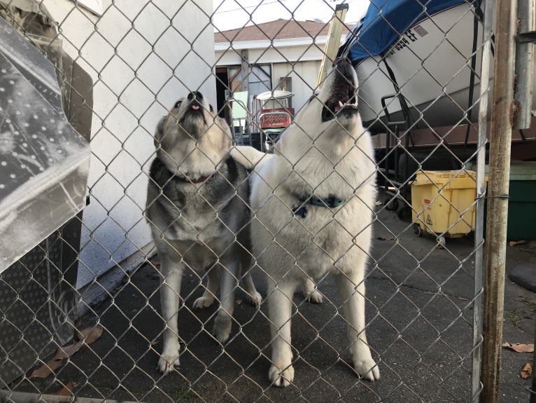
M287 38L315 38L325 36L329 22L279 20L249 25L239 29L216 32L214 42L263 41ZM343 32L346 34L346 32Z

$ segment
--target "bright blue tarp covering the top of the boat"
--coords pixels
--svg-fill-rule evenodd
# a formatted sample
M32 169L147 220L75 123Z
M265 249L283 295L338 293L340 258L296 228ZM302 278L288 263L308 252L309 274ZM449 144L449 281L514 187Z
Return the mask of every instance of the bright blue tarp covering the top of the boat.
M371 0L365 17L353 33L357 40L350 38L344 47L351 46L348 57L358 62L370 56L383 55L400 39L408 28L430 15L471 0ZM353 43L349 43L353 42Z

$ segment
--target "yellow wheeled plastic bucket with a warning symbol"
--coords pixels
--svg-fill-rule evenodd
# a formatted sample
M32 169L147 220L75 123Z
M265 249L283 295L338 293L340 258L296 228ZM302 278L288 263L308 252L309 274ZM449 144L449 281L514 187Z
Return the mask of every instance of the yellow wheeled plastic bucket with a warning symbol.
M487 178L486 178L487 180ZM477 173L419 171L411 184L414 232L458 238L474 231Z

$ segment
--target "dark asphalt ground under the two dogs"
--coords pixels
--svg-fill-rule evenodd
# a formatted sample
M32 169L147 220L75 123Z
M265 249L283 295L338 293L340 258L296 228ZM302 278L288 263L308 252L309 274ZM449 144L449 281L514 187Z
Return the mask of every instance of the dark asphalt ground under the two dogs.
M383 198L380 198L383 200ZM379 210L383 206L378 207ZM353 373L346 350L346 327L337 310L334 283L319 284L321 305L297 293L292 320L295 382L271 386L269 326L265 304L237 306L232 339L222 348L210 334L216 306L192 312L202 294L195 275L183 281L185 306L179 313L183 339L181 366L157 371L163 322L159 315L158 275L143 266L113 298L97 307L101 339L80 350L56 378L20 383L17 390L50 393L59 382L75 383L78 397L141 402L470 402L474 262L469 238L447 239L446 249L430 236L417 238L409 222L379 212L367 278L367 336L379 363L381 380L362 381ZM397 235L397 236L395 236ZM508 247L507 272L520 263L536 264L536 242ZM265 295L261 273L254 273ZM533 343L536 298L506 280L504 341ZM519 373L532 353L502 350L502 402L528 402L530 379Z

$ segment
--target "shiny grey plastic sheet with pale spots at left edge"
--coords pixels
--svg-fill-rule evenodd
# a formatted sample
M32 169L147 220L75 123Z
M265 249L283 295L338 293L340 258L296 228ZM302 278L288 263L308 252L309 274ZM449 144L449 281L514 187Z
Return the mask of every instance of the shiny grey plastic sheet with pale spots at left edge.
M3 271L83 208L90 146L64 116L52 64L3 20L0 35Z

